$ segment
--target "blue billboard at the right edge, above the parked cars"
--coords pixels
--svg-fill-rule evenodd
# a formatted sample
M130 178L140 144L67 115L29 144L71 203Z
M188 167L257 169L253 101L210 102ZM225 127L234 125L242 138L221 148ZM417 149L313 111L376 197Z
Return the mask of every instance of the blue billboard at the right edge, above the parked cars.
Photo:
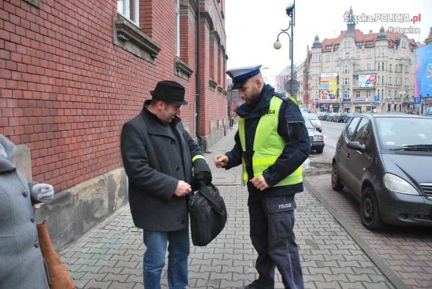
M414 97L432 96L432 43L415 50Z

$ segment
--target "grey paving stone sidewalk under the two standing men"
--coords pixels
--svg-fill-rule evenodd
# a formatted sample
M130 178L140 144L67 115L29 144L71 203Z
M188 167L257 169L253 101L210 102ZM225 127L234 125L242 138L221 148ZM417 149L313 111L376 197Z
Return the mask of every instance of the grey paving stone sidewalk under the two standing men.
M212 161L215 154L232 148L236 130L236 125L228 129L226 136L205 153L213 183L226 202L228 221L222 233L206 247L191 242L189 288L235 288L257 277L257 255L248 236L247 190L240 185L241 168L217 169ZM401 287L399 280L386 277L309 188L296 196L296 202L295 232L305 288ZM145 250L142 231L133 226L126 205L59 255L79 289L136 289L143 288ZM275 287L283 288L278 273ZM166 268L162 288L168 288Z

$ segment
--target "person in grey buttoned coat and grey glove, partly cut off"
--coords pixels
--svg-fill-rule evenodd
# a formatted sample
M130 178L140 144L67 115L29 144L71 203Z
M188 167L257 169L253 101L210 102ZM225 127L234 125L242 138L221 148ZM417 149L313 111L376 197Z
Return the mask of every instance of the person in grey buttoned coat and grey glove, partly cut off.
M27 183L13 164L17 148L0 135L0 288L49 288L32 204L49 202L54 188Z

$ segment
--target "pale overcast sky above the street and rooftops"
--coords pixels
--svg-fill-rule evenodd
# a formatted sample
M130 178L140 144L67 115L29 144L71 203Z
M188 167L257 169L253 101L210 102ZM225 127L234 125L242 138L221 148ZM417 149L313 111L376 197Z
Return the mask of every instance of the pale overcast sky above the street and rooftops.
M274 76L291 64L289 59L289 37L281 34L282 48L275 50L273 43L281 29L289 26L290 18L285 8L294 0L226 0L225 29L227 34L227 66L229 68L262 64L266 82L274 85ZM312 47L315 35L320 42L325 38L335 38L341 30L346 30L344 13L352 7L355 16L364 19L375 14L408 14L409 19L420 14L420 21L413 22L357 22L356 29L367 34L370 30L379 32L381 26L420 28L419 34L407 34L416 42L423 43L432 26L432 1L430 0L362 0L362 1L322 1L297 0L294 27L294 64L306 58L307 47ZM385 16L381 16L385 17ZM287 32L291 35L291 29Z

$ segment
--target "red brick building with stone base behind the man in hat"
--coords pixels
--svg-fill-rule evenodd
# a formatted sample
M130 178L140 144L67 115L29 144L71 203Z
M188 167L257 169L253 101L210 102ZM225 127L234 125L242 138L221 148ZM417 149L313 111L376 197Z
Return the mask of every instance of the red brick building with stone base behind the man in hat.
M0 0L0 134L54 186L37 216L56 216L57 247L127 202L121 128L159 80L185 86L203 149L224 134L224 13L224 0Z

